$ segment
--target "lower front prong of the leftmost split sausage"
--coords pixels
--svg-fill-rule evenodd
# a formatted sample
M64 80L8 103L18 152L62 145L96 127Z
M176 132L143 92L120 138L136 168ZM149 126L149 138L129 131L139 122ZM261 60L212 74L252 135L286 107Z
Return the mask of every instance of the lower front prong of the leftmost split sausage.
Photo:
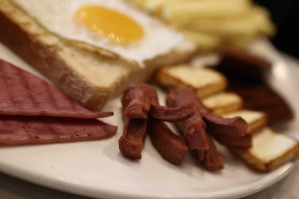
M140 160L144 147L148 121L125 117L124 133L119 139L119 149L124 157Z

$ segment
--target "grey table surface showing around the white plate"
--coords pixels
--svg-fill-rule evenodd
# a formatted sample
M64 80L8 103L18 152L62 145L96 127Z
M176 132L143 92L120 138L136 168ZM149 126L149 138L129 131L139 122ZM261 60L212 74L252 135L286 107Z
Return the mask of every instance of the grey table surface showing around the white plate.
M291 72L299 77L299 60L283 55ZM299 83L299 78L298 78ZM297 199L299 196L299 164L284 180L244 199ZM0 199L89 199L37 185L0 173Z

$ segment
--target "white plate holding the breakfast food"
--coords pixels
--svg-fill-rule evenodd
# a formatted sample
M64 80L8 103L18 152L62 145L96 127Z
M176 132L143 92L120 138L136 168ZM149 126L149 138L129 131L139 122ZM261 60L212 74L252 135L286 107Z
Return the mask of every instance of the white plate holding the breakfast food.
M270 81L298 113L297 86L278 54L267 42L255 45L254 52L274 61ZM2 45L0 57L34 72ZM159 94L163 103L164 96ZM2 147L0 171L49 188L102 199L237 199L280 181L295 165L289 163L270 174L255 173L221 147L225 169L209 173L189 155L180 167L165 162L148 139L142 160L132 162L123 158L118 150L123 129L120 100L111 100L106 109L115 112L114 117L105 119L119 126L115 137L92 142ZM297 121L285 132L296 135Z

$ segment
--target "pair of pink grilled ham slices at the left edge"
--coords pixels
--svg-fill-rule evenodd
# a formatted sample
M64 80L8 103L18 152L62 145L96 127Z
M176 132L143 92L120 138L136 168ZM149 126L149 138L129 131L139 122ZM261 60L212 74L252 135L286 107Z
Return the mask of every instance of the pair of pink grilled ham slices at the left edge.
M0 60L0 145L105 139L117 127L96 118L111 115L90 111L53 85Z

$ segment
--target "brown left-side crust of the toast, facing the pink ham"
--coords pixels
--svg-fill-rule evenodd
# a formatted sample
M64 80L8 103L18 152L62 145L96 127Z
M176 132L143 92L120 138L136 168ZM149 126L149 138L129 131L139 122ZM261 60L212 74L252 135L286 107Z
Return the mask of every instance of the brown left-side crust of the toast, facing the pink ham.
M68 96L89 108L102 108L109 92L97 90L85 82L79 74L71 71L56 53L57 45L48 45L30 35L17 24L8 12L0 10L0 41L30 65L36 67ZM98 108L96 108L98 109Z

